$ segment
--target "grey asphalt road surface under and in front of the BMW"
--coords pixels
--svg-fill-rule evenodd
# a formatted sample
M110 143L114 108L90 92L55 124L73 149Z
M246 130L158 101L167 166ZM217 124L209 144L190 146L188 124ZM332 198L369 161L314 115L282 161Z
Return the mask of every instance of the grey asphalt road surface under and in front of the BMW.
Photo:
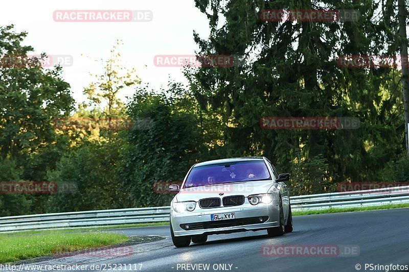
M132 269L122 266L122 270L128 271L251 272L357 271L357 268L360 271L392 271L398 267L391 267L391 264L401 265L400 270L404 265L409 266L409 209L294 216L293 225L292 233L280 237L269 238L266 231L212 235L206 243L191 243L188 248L173 246L168 226L116 229L111 231L128 236L167 238L140 244L136 253L93 260L92 264L106 265L106 269L108 265L116 266L117 270L120 264L132 265ZM266 246L267 251L264 250ZM271 246L275 246L275 251ZM334 247L336 251L332 251ZM303 250L292 251L294 255L310 256L291 256L291 248ZM323 256L317 257L316 253ZM373 266L366 267L366 264ZM376 265L388 267L380 269L382 267Z

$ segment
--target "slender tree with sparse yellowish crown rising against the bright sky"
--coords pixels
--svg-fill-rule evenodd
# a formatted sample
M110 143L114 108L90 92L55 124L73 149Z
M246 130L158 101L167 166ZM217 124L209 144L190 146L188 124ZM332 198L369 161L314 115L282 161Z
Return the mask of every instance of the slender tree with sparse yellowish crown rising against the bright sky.
M119 150L124 144L126 132L106 130L96 125L98 121L110 122L110 117L126 118L125 105L119 94L125 87L132 87L141 81L135 69L127 69L122 64L117 41L110 51L110 58L101 59L103 73L94 76L97 80L84 88L89 103L80 105L73 118L90 120L87 128L81 126L70 129L71 143L75 145L57 165L49 171L49 179L57 182L75 182L78 192L52 197L49 212L122 208L126 190L117 179ZM106 103L106 106L105 106ZM89 109L87 106L94 106ZM85 121L83 123L86 123ZM98 128L97 128L98 127ZM126 128L125 128L126 129Z

